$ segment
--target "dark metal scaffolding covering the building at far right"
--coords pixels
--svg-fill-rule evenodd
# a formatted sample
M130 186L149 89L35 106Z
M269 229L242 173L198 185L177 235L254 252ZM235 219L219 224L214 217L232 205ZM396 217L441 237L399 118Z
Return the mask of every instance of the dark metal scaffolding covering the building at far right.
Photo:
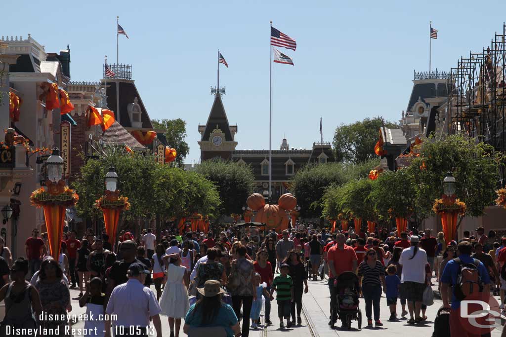
M461 57L448 74L448 134L464 133L505 152L506 24L490 46Z

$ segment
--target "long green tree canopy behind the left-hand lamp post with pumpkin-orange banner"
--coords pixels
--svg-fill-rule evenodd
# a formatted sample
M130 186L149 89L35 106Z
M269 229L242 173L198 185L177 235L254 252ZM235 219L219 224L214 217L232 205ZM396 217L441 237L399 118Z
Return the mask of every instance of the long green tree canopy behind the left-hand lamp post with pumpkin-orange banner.
M215 185L196 172L158 164L151 153L126 153L120 147L105 149L105 156L90 159L81 167L73 183L81 217L100 219L102 211L94 207L104 194L104 177L113 166L118 174L117 188L128 197L131 208L122 212L125 221L135 218L161 219L201 213L215 217L221 204Z

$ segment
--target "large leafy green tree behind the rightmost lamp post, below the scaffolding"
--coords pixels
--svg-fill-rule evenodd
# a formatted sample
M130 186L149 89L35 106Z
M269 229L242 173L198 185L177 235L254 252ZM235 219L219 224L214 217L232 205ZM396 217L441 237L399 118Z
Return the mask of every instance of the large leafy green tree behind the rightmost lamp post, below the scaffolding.
M429 138L420 146L420 156L407 170L413 181L416 203L425 217L434 215L434 200L441 198L446 172L457 181L456 196L467 205L466 216L481 216L492 205L499 181L502 158L492 146L476 139L451 135L441 140Z

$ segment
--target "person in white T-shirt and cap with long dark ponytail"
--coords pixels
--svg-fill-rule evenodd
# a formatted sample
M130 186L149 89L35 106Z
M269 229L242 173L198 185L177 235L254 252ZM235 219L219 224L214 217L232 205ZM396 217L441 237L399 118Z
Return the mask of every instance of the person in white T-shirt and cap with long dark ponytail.
M423 321L423 318L420 317L420 310L425 290L427 253L418 248L418 241L418 236L412 235L410 238L411 247L404 249L399 259L399 264L402 265L401 283L403 283L408 301L410 316L408 324Z

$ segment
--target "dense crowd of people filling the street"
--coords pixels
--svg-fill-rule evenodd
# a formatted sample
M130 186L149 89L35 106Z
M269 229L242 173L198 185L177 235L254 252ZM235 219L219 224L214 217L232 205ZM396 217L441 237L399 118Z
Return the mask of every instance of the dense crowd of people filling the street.
M495 233L485 235L483 228L476 237L465 232L459 243L443 233L434 237L430 229L330 233L302 223L282 232L214 229L184 234L166 229L158 235L147 229L137 236L122 231L114 247L105 230L88 229L80 239L70 231L63 235L58 260L49 254L47 235L39 236L37 229L26 240L26 257L15 261L0 239L0 300L7 312L2 328L39 324L46 335L64 335L65 313L72 310L69 289L78 287L79 306L88 314L114 315L113 320L87 320L85 331L98 331L89 335L161 335L161 315L171 337L179 337L182 320L190 336L247 337L250 329L272 324L273 300L280 328L301 325L308 280L318 278L328 279L333 326L338 310L332 308L356 304L347 297L350 290L339 287L338 276L345 272L358 277L368 327L383 325L382 309L389 310L390 321L398 321L399 300L400 316L419 324L428 319L425 293L435 272L443 307L451 311L451 335L471 336L458 323L459 303L469 292L462 266L476 273L480 292L500 294L504 309L506 237L496 242Z

